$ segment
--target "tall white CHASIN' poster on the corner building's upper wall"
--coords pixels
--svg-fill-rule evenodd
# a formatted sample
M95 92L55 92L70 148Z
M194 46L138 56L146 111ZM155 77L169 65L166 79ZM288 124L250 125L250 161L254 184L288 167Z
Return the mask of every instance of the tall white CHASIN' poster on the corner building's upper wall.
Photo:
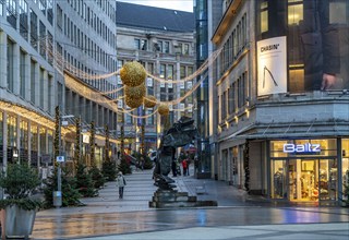
M257 41L257 95L287 92L286 36Z

